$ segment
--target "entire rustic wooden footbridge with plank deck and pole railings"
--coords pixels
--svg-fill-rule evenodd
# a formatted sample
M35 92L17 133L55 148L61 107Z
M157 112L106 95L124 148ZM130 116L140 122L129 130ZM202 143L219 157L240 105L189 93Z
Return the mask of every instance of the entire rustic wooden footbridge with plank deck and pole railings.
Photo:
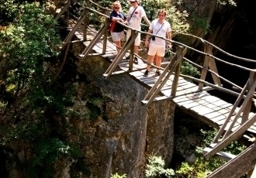
M81 5L82 9L84 9L81 17L73 21L73 23L69 23L67 26L67 29L70 31L66 39L64 39L62 46L66 52L69 50L71 43L84 43L85 50L80 55L81 59L86 59L87 56L98 55L106 58L106 60L109 60L111 63L106 70L106 73L103 74L106 79L114 75L127 74L139 84L142 84L149 89L147 96L141 101L145 106L154 101L172 100L179 108L182 108L183 111L189 113L189 115L217 128L219 132L213 139L213 147L205 149L206 158L210 158L217 154L223 154L221 152L223 148L241 137L247 139L254 138L254 135L256 134L256 125L254 124L256 121L256 114L251 112L251 104L254 103L255 97L256 70L221 60L220 58L213 56L213 50L219 50L221 53L227 54L227 56L248 63L255 63L254 60L234 56L197 36L173 32L176 36L189 36L199 40L204 45L204 50L196 50L192 46L187 46L184 43L157 36L171 42L175 46L175 52L173 52L171 59L167 59L167 62L162 63L162 67L158 67L158 69L162 70L161 76L155 77L155 69L153 69L147 77L144 77L147 60L144 60L143 57L133 53L134 39L136 39L138 33L144 35L148 34L150 36L155 35L131 29L129 26L119 22L123 26L126 26L127 29L131 29L132 35L123 45L120 52L116 53L116 46L110 42L108 33L110 9L102 8L95 4L95 2L89 0L86 0L85 2L85 6ZM71 22L68 19L70 16L68 11L70 5L71 1L69 0L61 12L56 16L56 19L59 19L62 15L66 14L67 21ZM88 27L89 14L94 14L99 21L102 20L102 17L105 19L102 22L99 31L95 31L95 29ZM76 36L75 40L74 36ZM145 50L143 46L142 50ZM189 50L204 56L204 63L202 66L193 63L192 60L185 57L185 54ZM138 64L133 63L133 56L135 55L139 59ZM126 59L127 56L130 56L128 60ZM218 74L215 63L216 60L227 64L227 66L237 67L244 70L244 75L249 74L247 76L247 81L244 82L244 87L240 87L234 82L221 77ZM181 74L181 67L184 61L201 69L200 78ZM152 64L150 65L152 66L151 68L157 68ZM207 73L210 73L213 77L213 83L206 81ZM240 93L224 88L222 85L223 81L236 87L237 91L240 91ZM237 97L237 101L235 101L234 104L230 104L227 101L223 101L221 98L212 96L207 92L209 90L219 90L225 94L231 94ZM256 158L255 148L256 146L254 143L251 143L244 152L241 152L238 156L230 157L230 160L226 164L219 169L216 169L207 177L240 177L245 173L247 173L247 177L254 177L254 172L256 172L256 170L254 171ZM237 169L237 167L240 167L240 169Z

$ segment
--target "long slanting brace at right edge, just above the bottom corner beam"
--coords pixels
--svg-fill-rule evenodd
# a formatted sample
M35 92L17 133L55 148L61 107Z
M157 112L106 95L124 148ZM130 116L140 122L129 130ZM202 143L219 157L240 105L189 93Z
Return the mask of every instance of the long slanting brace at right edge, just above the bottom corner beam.
M247 129L254 124L254 122L256 122L256 114L252 115L251 118L247 120L247 122L237 128L237 130L231 133L227 138L224 138L221 142L217 143L212 151L206 153L205 157L209 159L210 157L215 155L216 152L220 152L221 149L227 147L227 145L230 145L231 142L240 139L244 132L246 132Z

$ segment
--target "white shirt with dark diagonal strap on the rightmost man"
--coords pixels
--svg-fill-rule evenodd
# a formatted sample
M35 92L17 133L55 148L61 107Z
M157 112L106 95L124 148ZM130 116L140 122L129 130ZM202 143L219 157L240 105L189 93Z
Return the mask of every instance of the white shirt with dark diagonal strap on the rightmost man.
M165 38L166 33L171 32L171 25L166 20L164 20L164 22L162 24L160 24L158 22L158 19L155 19L150 23L149 29L153 30L153 34L155 34L157 36L162 36L162 37ZM151 39L150 43L154 43L154 44L157 44L157 45L164 45L165 40L156 37L154 41Z

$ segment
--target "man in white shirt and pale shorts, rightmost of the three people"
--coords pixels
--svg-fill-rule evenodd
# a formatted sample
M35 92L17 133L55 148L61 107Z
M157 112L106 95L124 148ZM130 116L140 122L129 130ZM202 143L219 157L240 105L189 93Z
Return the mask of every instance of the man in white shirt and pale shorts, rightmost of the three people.
M165 20L166 17L166 12L164 9L160 9L158 11L158 18L154 19L150 27L147 31L147 33L153 33L154 35L161 36L168 39L171 39L171 25L169 22ZM154 56L156 56L156 66L161 67L161 59L164 56L165 53L165 46L166 46L166 41L161 38L157 38L155 36L152 36L149 42L149 36L146 36L146 41L145 41L145 46L149 46L148 49L148 63L153 63L154 61ZM171 46L171 43L168 43L169 46ZM148 72L150 70L150 65L147 64L147 70L144 73L144 76L148 75ZM161 75L161 72L157 69L156 76Z

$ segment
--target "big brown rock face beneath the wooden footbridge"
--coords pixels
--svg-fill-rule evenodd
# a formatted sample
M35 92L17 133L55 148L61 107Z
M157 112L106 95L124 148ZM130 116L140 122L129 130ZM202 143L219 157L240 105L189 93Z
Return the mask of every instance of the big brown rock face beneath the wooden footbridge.
M175 104L164 101L145 108L140 101L147 89L127 75L103 78L108 66L99 56L77 62L84 80L75 84L72 108L82 115L69 119L79 134L68 132L67 138L83 148L90 177L140 177L147 156L171 163Z

